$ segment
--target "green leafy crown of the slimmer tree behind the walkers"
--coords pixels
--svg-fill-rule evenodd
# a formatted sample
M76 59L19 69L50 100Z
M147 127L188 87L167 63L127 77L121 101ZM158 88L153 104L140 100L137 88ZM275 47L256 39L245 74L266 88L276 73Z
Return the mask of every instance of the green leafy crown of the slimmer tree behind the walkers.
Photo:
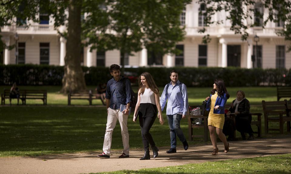
M96 1L88 6L83 24L91 49L118 49L121 55L146 47L160 53L176 52L176 43L184 39L179 16L190 0ZM100 8L100 5L108 8ZM99 6L99 8L96 8ZM124 65L123 56L121 65Z

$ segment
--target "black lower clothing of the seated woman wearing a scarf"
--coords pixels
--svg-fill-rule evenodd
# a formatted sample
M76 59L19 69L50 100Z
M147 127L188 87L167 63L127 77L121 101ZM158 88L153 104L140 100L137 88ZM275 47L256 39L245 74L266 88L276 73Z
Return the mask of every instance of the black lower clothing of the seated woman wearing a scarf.
M239 114L236 116L236 130L238 130L242 135L248 133L253 134L253 129L251 127L252 115L250 114Z

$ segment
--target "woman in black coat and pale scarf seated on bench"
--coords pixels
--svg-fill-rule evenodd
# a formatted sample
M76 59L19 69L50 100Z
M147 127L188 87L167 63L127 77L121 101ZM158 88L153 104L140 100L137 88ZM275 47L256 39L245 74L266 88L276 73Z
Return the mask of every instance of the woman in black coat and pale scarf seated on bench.
M236 99L232 101L229 108L230 113L236 115L236 130L240 132L243 140L246 140L246 133L249 134L248 140L254 139L253 129L251 127L252 115L249 112L249 100L241 90L236 92Z

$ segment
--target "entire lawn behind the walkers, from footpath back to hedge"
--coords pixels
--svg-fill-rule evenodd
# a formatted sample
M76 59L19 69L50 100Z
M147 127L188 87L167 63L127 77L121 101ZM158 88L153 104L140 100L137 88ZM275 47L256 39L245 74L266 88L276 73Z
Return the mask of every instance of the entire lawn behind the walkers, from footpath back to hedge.
M6 87L7 88L7 87ZM102 152L105 127L107 122L106 107L100 106L67 106L67 97L59 94L59 86L21 86L21 89L47 89L48 105L42 106L41 101L27 101L26 106L12 105L0 107L0 157L5 156L38 156L43 154L74 153L74 152ZM1 86L0 91L3 91ZM93 87L92 87L93 89ZM260 100L276 100L276 88L255 87L242 88L247 93L251 103L256 104L251 112L262 112ZM135 88L136 90L136 88ZM238 88L229 88L231 98L235 98ZM162 90L161 90L162 91ZM209 94L210 89L189 88L189 103L201 104ZM100 102L96 100L97 102ZM6 101L9 103L9 101ZM16 100L14 99L15 103ZM75 101L77 102L77 101ZM40 105L29 105L29 104ZM74 103L73 103L74 104ZM75 103L77 104L77 103ZM80 101L80 105L88 105L86 101ZM55 106L58 105L58 106ZM95 105L99 105L95 103ZM101 102L100 102L101 105ZM166 120L165 111L163 116ZM276 126L276 123L272 126ZM264 122L262 123L264 130ZM138 123L132 122L132 115L128 121L131 149L141 148L141 133ZM182 119L181 128L188 139L187 119ZM256 127L253 127L255 130ZM286 126L284 125L284 133ZM122 149L122 137L120 126L117 123L112 141L112 150ZM202 134L203 129L196 129L197 134ZM159 121L151 129L158 147L169 146L169 126L166 121L160 125ZM240 134L236 132L239 137ZM165 136L167 135L167 136ZM276 136L268 134L263 136ZM204 143L202 138L195 138L189 144ZM210 140L207 143L211 143ZM178 146L182 143L178 141Z

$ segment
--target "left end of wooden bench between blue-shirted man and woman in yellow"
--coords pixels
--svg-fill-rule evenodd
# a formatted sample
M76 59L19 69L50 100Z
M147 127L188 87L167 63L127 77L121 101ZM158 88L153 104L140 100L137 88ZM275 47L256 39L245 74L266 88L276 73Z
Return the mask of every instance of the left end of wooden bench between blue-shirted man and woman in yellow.
M189 108L197 108L199 106L189 106ZM190 109L189 109L190 110ZM202 109L200 109L201 113ZM195 121L197 118L202 118L202 122L196 124ZM203 137L204 141L208 141L208 115L192 115L191 111L189 112L188 116L188 133L189 133L189 141L193 141L194 137ZM195 135L193 134L193 128L203 128L203 135Z

